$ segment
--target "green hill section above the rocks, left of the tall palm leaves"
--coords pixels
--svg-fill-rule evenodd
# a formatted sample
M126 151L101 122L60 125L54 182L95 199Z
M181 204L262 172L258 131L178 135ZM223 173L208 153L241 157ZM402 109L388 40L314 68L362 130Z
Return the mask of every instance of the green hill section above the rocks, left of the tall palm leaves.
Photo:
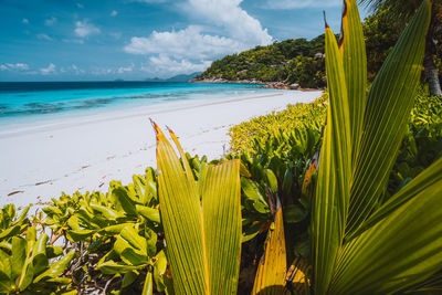
M322 88L326 85L324 52L324 34L309 41L274 42L214 61L193 81L282 82L296 84L295 87Z

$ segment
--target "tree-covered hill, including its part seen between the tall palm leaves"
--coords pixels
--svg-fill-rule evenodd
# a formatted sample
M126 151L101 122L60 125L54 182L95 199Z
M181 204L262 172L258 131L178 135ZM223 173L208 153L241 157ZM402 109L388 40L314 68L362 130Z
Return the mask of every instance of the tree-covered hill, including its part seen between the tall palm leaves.
M389 6L380 6L362 24L367 46L368 80L372 81L398 41L406 20ZM338 36L337 36L338 38ZM442 77L442 34L435 35L433 61ZM214 61L196 80L262 81L322 88L326 85L324 34L315 39L291 39L256 46Z

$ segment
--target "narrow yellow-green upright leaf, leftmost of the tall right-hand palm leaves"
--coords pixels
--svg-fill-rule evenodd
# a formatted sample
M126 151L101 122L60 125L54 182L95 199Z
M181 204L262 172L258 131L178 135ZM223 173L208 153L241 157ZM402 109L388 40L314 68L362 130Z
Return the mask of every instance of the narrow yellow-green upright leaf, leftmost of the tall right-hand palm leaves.
M329 91L327 123L312 212L315 293L324 294L344 239L351 169L349 109L343 56L335 34L326 28L326 71Z

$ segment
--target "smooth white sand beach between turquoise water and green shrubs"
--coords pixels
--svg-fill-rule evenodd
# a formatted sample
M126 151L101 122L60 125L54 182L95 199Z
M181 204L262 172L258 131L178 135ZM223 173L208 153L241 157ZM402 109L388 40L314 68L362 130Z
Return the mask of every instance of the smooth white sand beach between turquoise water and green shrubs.
M62 191L107 191L110 180L130 182L147 166L156 167L149 117L169 126L186 151L214 159L229 150L229 127L318 96L278 91L8 127L0 130L0 206L45 202Z

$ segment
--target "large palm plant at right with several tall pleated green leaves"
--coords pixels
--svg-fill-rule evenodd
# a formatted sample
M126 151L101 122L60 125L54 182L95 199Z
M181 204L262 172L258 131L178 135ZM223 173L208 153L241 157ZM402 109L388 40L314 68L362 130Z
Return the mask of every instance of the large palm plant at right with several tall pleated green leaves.
M330 105L312 215L313 283L316 294L385 294L422 282L442 265L442 225L436 225L442 218L442 160L386 204L381 199L422 71L431 2L423 1L366 104L359 81L364 61L357 52L364 44L361 30L351 24L360 21L359 14L355 0L345 3L341 54L326 29ZM349 115L341 112L347 107ZM360 108L365 110L358 129L351 120Z

